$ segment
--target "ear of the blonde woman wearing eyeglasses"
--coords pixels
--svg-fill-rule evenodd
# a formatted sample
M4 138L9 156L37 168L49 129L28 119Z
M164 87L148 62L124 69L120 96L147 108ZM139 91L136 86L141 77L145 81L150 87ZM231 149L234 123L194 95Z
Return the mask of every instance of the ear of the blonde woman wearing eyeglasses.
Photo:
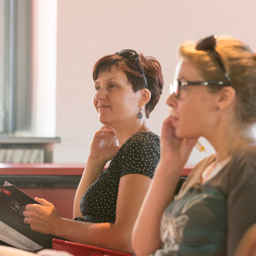
M230 107L236 99L236 90L232 86L224 86L218 91L218 109Z

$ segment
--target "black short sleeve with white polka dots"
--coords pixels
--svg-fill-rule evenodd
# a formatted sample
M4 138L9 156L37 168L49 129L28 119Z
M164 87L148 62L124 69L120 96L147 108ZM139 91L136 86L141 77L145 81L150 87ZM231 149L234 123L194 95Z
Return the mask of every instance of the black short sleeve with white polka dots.
M152 132L139 132L126 143L120 175L143 174L152 178L160 158L160 140Z

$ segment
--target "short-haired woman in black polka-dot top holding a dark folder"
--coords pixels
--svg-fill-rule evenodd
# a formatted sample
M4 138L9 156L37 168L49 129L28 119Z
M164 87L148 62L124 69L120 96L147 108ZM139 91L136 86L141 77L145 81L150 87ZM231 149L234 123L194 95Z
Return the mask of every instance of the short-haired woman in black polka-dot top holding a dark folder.
M160 139L148 117L161 96L161 65L124 50L98 60L93 79L93 104L103 126L90 144L73 206L75 220L37 199L41 205L27 205L24 222L36 232L132 253L131 232L160 157Z

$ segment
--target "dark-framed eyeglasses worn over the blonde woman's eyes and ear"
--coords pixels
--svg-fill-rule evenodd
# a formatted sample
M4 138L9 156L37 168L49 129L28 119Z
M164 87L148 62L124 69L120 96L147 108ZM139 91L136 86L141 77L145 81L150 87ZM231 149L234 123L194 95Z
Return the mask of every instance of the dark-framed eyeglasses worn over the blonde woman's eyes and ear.
M187 86L228 86L222 81L179 81L174 80L172 84L170 84L170 94L174 94L177 99L179 99L180 90L185 89Z

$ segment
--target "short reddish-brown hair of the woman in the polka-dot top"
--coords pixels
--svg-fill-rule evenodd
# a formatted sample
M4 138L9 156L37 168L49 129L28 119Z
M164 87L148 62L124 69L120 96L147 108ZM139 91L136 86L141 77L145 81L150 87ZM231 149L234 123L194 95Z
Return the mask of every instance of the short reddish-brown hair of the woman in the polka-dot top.
M145 113L148 118L149 113L152 112L160 99L164 78L161 73L161 64L155 58L151 56L144 57L142 54L139 54L139 62L148 81L148 90L151 92L151 99L145 106ZM94 81L98 79L100 73L111 71L113 66L126 73L126 77L131 83L134 92L145 88L143 75L139 72L135 60L133 58L127 59L120 55L106 55L99 59L93 68L92 76Z

